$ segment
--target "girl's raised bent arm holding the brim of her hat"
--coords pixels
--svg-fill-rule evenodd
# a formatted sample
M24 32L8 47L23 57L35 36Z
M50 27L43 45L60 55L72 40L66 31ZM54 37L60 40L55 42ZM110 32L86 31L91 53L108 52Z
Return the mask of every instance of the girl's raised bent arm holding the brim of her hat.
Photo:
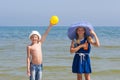
M91 30L91 34L94 36L94 40L92 37L88 37L88 41L93 45L93 46L96 46L96 47L99 47L100 46L100 42L99 42L99 39L96 35L96 33Z

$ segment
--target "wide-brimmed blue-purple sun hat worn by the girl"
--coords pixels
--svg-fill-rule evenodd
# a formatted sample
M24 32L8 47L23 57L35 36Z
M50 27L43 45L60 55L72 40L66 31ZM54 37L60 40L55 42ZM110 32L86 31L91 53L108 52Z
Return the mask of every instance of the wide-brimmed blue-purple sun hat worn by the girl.
M90 34L90 30L94 30L93 26L92 26L89 22L81 21L81 22L78 22L78 23L73 24L72 26L70 26L70 27L68 28L67 34L68 34L68 38L69 38L70 40L76 39L76 29L77 29L78 27L84 27L85 30L86 30L86 35L87 35L87 36L92 36L92 35Z

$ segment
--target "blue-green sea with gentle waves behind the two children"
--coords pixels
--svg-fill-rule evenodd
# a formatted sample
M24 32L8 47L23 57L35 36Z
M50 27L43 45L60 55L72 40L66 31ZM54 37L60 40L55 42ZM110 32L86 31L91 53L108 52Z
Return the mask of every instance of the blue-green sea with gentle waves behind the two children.
M101 47L92 47L92 80L119 80L120 74L120 27L94 27ZM0 27L0 80L27 80L26 46L32 30L41 34L46 26L1 26ZM67 37L68 26L54 26L44 42L43 79L73 80L71 72L74 54L69 53L71 41ZM64 76L64 77L63 77ZM101 76L101 78L99 78Z

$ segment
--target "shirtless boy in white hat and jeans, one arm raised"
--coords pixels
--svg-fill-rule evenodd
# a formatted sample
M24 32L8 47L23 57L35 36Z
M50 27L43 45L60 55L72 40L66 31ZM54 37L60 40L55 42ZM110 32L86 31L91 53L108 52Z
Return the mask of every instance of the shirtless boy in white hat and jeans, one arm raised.
M42 37L37 31L32 31L29 35L32 43L27 46L27 75L30 77L30 80L41 80L42 78L41 45L45 41L52 26L52 24L49 25Z

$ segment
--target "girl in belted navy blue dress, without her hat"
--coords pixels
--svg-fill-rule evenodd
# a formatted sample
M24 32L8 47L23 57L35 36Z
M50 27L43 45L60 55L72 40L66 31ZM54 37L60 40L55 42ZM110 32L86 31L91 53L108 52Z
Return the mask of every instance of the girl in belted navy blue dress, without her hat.
M70 52L75 53L72 72L77 73L77 80L82 80L82 74L84 74L85 80L90 80L90 73L92 72L89 57L91 44L96 47L100 46L96 33L90 30L90 34L93 36L86 36L86 29L78 26L76 39L71 41Z

